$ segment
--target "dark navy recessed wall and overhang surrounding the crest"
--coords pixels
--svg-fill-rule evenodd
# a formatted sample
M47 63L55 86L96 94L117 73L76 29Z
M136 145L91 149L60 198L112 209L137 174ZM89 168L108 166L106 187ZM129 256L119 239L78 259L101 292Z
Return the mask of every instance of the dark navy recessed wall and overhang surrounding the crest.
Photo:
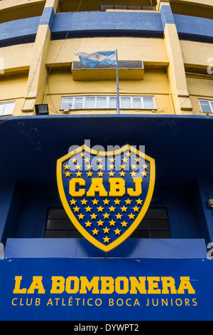
M204 238L206 243L212 242L213 217L206 197L207 192L209 196L213 195L213 158L209 155L213 143L206 145L212 122L210 118L177 115L143 118L133 115L101 115L96 118L48 115L47 118L19 117L4 123L0 133L0 149L4 156L4 161L0 161L1 242L5 243L8 237L43 237L48 201L50 197L59 197L56 160L67 153L72 143L81 145L82 138L91 138L93 134L91 147L97 143L104 145L106 138L109 145L124 145L124 133L126 138L131 138L133 145L146 143L146 153L155 158L156 182L151 207L167 207L171 237ZM32 129L32 124L36 132L31 133L29 141L28 129ZM62 133L58 129L62 129ZM200 133L200 137L189 136L189 129ZM5 143L7 133L11 133L12 138ZM198 158L197 152L200 153ZM198 180L200 164L202 174L206 176L204 181ZM11 176L20 182L9 183Z

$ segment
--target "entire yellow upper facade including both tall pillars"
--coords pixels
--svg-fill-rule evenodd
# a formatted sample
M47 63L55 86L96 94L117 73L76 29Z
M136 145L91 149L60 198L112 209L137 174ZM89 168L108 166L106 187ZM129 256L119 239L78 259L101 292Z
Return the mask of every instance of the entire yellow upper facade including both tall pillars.
M195 0L193 3L205 4L206 8L209 6L209 0L199 1ZM177 4L186 2L190 4L192 1L177 0ZM45 1L2 0L0 14L9 9L9 5L11 10L18 6L24 8L27 3L33 8L38 4L44 6ZM116 81L74 81L71 71L72 62L79 61L75 55L77 51L92 53L116 48L120 61L143 61L144 65L143 80L119 81L120 95L154 96L156 107L153 111L121 110L121 113L191 115L200 113L198 98L212 99L213 75L207 76L205 71L209 65L208 58L213 57L213 44L179 41L175 25L167 24L164 38L100 37L68 38L65 41L51 41L48 26L40 26L35 43L0 48L0 59L4 59L4 74L0 74L0 102L16 100L13 115L22 115L24 98L28 96L31 99L26 103L24 115L32 115L28 112L28 105L33 99L35 103L48 103L50 114L55 114L63 113L60 110L62 96L116 95ZM37 55L42 55L39 64ZM45 83L48 71L50 76ZM32 83L28 73L33 78ZM203 76L204 74L206 76ZM29 84L31 92L28 95ZM106 113L106 111L73 110L70 113ZM116 110L107 110L107 113L116 113Z

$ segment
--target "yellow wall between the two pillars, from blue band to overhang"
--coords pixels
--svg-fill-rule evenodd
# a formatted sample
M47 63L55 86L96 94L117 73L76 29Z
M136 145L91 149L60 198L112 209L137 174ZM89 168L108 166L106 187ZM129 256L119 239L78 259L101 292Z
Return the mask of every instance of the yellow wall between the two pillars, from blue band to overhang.
M118 48L119 60L141 60L145 66L144 78L142 81L120 81L119 88L121 95L154 95L155 113L174 113L173 105L170 104L168 78L166 66L168 56L165 51L163 39L158 38L75 38L64 41L51 41L48 50L46 63L51 66L71 67L72 61L79 61L75 56L77 51L92 53L100 48ZM61 48L62 47L62 48ZM58 50L61 48L60 54ZM159 68L153 68L159 67ZM60 108L61 96L76 95L115 95L116 81L73 81L68 71L52 71L49 83L45 89L44 103L50 104L50 113L57 113ZM50 98L51 95L51 98ZM60 112L62 113L62 111ZM73 111L70 113L105 113L104 111ZM107 113L116 113L108 110ZM133 110L123 113L135 113ZM136 113L151 113L141 111Z

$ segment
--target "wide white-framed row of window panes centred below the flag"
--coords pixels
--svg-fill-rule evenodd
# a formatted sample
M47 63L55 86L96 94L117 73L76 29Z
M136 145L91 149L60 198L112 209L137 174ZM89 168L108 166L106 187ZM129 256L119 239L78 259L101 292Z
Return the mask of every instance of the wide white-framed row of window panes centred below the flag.
M116 96L63 97L61 110L116 108ZM120 108L155 109L153 96L120 96Z

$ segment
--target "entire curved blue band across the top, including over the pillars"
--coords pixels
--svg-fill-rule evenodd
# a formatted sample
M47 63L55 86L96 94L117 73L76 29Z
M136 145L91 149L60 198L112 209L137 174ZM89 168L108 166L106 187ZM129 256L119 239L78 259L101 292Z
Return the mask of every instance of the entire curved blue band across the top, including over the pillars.
M42 16L0 24L0 47L35 40L39 24L49 24L52 38L89 36L143 36L163 38L165 24L175 24L180 38L213 43L213 20L173 14L169 6L159 13L72 12L54 14L45 8Z

